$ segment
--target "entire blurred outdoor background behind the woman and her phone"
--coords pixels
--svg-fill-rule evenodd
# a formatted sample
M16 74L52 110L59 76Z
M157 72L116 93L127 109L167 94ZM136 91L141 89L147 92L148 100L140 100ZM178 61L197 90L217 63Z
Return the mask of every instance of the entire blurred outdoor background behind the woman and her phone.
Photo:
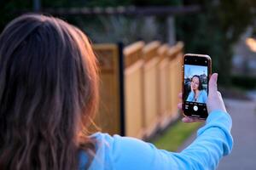
M102 67L99 115L116 113L117 127L110 130L113 122L96 117L102 131L145 139L166 150L182 150L201 126L183 124L174 109L181 56L210 55L234 124L234 151L219 169L255 169L256 1L0 0L0 32L10 20L31 12L78 26L95 45Z

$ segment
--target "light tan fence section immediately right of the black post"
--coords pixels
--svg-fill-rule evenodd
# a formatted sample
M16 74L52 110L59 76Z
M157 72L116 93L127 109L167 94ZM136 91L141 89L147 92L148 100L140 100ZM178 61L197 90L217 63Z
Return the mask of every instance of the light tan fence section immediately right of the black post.
M143 138L143 52L144 42L124 48L125 135Z

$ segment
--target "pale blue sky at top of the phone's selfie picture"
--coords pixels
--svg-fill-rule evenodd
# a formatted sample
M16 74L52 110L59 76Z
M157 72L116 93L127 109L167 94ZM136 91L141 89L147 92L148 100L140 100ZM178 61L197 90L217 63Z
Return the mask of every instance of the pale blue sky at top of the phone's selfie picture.
M184 65L184 77L193 77L194 75L201 75L205 73L207 75L207 66L201 65Z

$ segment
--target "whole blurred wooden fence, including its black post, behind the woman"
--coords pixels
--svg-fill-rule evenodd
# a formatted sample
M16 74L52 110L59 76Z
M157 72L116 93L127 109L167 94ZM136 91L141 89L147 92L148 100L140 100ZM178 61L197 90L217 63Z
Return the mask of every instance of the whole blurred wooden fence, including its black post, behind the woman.
M100 109L96 124L102 132L148 138L177 119L182 89L183 43L95 44L100 61Z

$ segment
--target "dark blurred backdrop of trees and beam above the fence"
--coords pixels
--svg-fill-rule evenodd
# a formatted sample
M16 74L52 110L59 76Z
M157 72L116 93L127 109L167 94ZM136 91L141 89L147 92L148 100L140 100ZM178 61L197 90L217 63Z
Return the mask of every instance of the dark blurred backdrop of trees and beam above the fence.
M255 84L253 0L1 0L0 6L0 31L19 14L44 12L79 26L92 42L183 41L185 52L212 57L222 84Z

